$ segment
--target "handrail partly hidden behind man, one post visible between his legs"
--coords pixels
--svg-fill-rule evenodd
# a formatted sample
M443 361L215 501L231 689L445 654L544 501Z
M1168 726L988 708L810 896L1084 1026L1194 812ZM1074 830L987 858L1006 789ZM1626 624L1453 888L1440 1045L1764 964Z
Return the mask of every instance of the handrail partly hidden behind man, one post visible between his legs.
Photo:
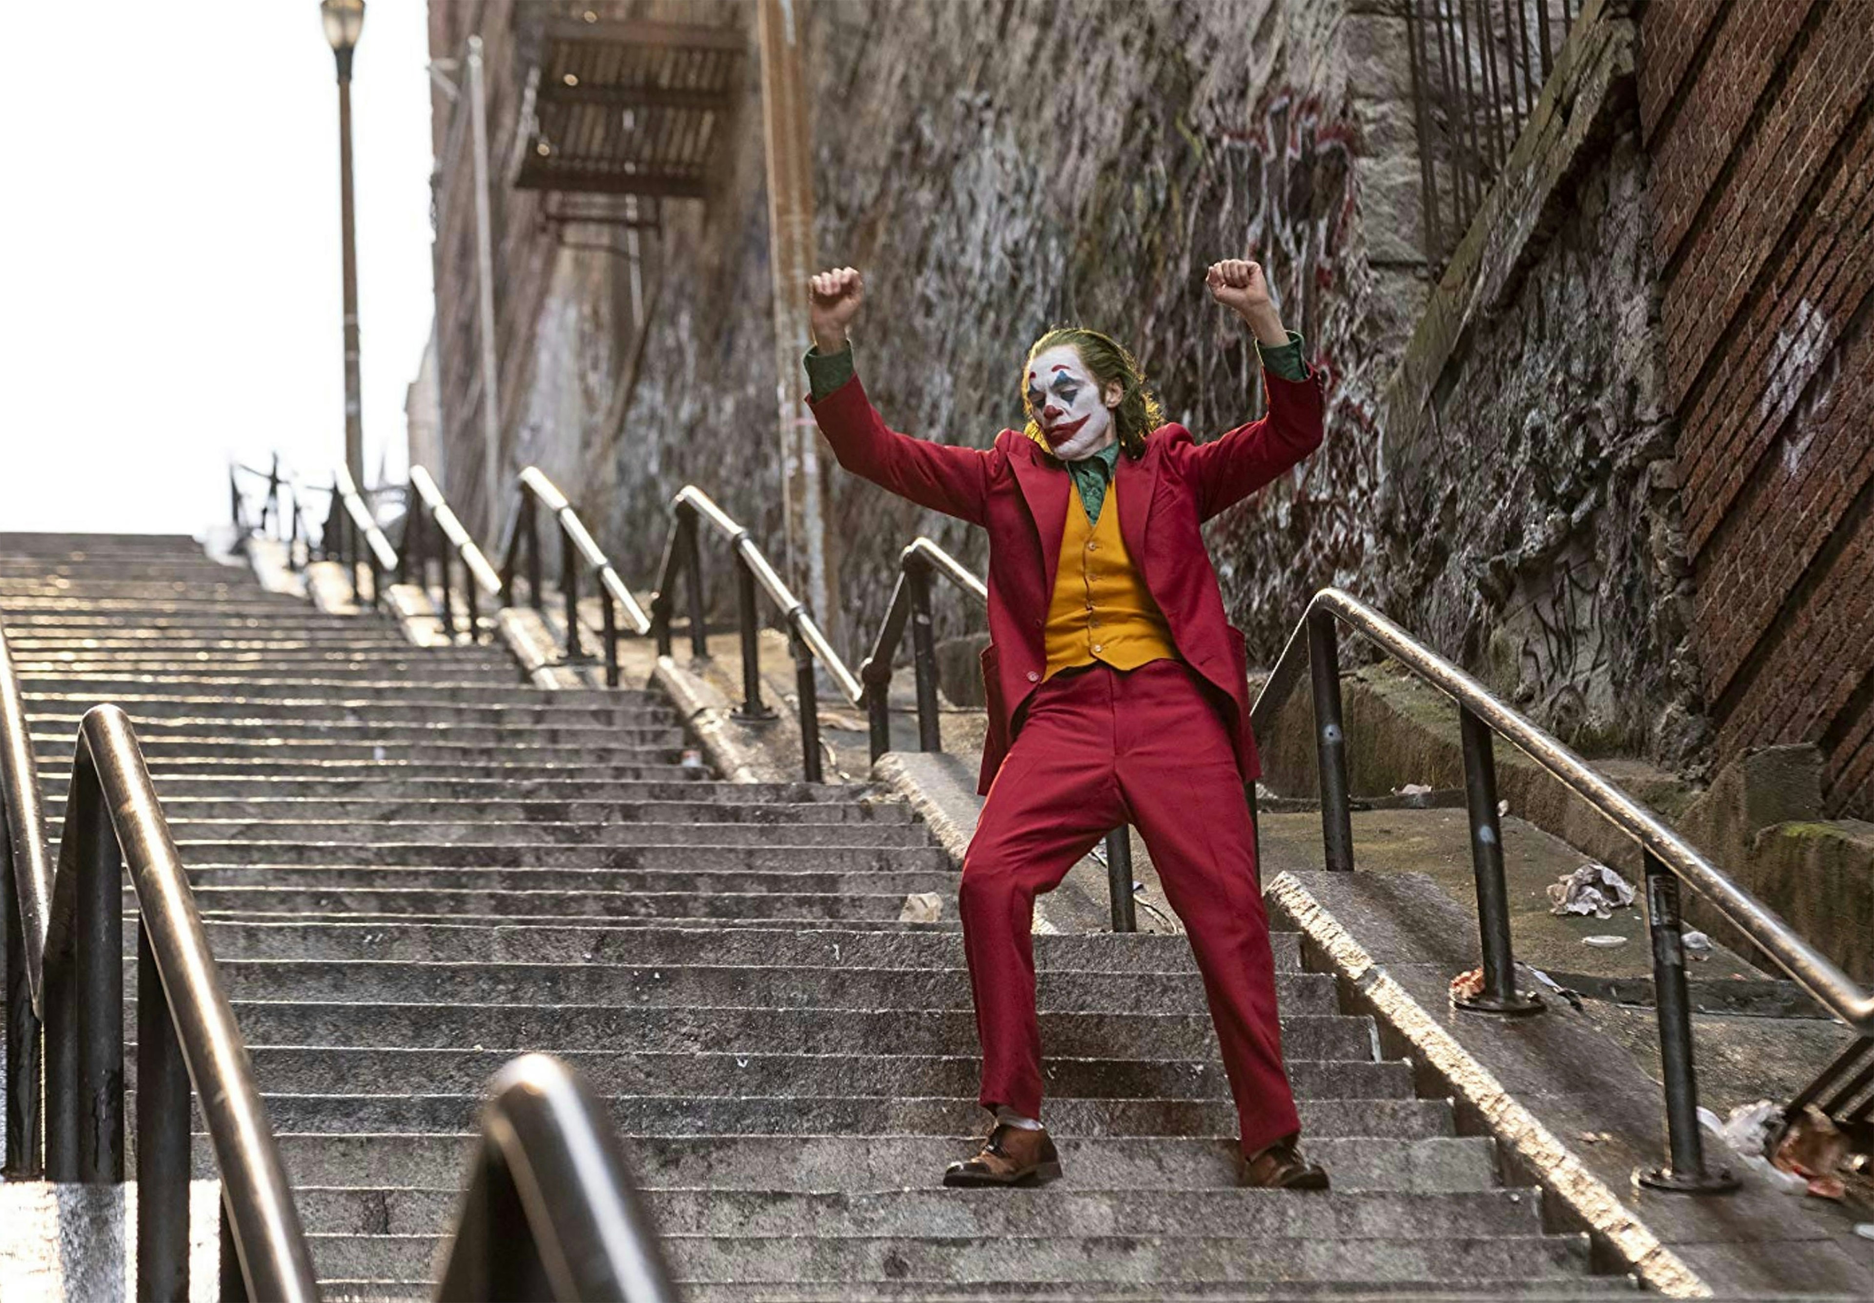
M918 696L918 751L943 751L943 728L937 706L937 637L931 629L931 578L941 577L954 588L989 605L988 586L969 569L926 537L916 537L898 554L898 584L885 623L871 642L871 653L860 661L858 678L866 691L866 725L871 732L871 758L877 762L892 749L892 661L905 627L911 629L911 670ZM1136 932L1138 914L1132 902L1132 835L1121 824L1106 835L1106 878L1113 908L1113 930Z

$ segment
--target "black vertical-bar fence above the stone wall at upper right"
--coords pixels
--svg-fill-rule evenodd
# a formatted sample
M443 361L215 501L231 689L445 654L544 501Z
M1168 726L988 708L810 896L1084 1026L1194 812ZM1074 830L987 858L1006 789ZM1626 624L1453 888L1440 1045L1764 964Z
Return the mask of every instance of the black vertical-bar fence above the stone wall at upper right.
M1464 240L1569 36L1582 0L1406 0L1424 256Z

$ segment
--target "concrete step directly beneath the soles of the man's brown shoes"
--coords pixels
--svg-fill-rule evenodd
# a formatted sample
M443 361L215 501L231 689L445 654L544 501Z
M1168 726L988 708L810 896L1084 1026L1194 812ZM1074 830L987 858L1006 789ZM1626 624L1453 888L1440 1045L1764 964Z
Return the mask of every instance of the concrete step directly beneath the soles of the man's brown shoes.
M296 1191L313 1234L435 1234L455 1221L461 1191L317 1187ZM1282 1194L1271 1191L1102 1191L1059 1181L1044 1189L901 1189L879 1193L645 1191L665 1236L1321 1236L1396 1239L1411 1226L1426 1237L1542 1234L1535 1191L1406 1194L1362 1191Z

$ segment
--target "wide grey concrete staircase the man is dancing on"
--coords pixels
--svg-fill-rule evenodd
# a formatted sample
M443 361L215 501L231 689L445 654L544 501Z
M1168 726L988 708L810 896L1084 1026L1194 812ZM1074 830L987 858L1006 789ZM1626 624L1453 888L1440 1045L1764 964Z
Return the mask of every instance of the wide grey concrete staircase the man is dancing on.
M1293 934L1284 1043L1334 1193L1231 1187L1175 936L1036 938L1066 1179L944 1191L982 1127L974 1022L954 869L907 807L686 779L654 695L523 687L506 652L412 648L182 537L0 535L0 612L54 837L82 711L137 723L328 1297L427 1296L523 1050L607 1097L692 1299L1627 1286L1377 1061ZM916 891L944 921L898 921Z

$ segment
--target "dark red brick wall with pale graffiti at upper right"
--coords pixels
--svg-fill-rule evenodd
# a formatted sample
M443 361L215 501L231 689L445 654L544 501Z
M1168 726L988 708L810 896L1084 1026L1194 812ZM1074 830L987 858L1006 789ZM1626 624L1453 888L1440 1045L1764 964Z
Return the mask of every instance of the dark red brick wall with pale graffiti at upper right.
M1874 818L1874 0L1653 0L1640 60L1718 760Z

